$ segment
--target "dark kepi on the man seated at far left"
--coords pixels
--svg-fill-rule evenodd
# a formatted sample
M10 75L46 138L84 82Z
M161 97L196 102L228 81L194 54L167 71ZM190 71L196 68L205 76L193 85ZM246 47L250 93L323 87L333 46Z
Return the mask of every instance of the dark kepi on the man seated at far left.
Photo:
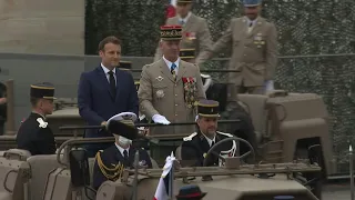
M39 99L55 99L54 86L50 82L31 84L30 96Z

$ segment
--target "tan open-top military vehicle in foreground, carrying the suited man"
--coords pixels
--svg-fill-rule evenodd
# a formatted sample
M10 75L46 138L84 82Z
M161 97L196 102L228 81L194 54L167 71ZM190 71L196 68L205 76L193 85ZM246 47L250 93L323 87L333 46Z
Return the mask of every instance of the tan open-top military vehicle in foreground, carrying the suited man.
M148 139L149 140L149 139ZM321 184L321 167L310 160L295 160L285 163L241 162L244 157L254 159L253 147L240 138L229 138L217 142L206 154L213 153L217 146L229 140L244 142L248 152L234 158L222 159L220 167L183 167L183 160L176 154L170 176L170 197L174 197L184 184L199 184L207 196L204 199L221 198L225 200L270 199L275 196L293 196L300 200L317 200L321 197L312 192L313 187ZM113 142L114 138L70 139L57 154L30 156L26 150L11 149L0 158L0 200L128 200L153 199L162 169L152 159L153 169L139 166L135 156L135 169L120 171L121 178L108 180L93 190L93 159L88 159L85 151L74 148L83 143ZM312 178L305 181L307 174ZM173 199L173 198L172 198Z

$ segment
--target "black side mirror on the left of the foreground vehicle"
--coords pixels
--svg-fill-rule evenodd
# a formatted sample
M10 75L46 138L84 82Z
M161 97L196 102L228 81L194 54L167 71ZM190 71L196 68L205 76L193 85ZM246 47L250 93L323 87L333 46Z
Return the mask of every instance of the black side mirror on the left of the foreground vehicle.
M74 149L69 152L71 183L74 187L90 186L88 153L84 149Z

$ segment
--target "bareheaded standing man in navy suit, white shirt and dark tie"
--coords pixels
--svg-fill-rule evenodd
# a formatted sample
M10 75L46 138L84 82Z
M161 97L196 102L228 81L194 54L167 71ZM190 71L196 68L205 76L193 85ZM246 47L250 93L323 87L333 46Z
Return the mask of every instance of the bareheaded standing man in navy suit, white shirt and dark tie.
M101 63L92 71L82 72L78 87L80 116L89 126L105 124L121 112L139 113L136 89L132 73L118 68L121 59L121 41L106 37L99 43ZM105 130L85 130L84 138L112 137ZM89 157L106 149L108 143L88 144Z

